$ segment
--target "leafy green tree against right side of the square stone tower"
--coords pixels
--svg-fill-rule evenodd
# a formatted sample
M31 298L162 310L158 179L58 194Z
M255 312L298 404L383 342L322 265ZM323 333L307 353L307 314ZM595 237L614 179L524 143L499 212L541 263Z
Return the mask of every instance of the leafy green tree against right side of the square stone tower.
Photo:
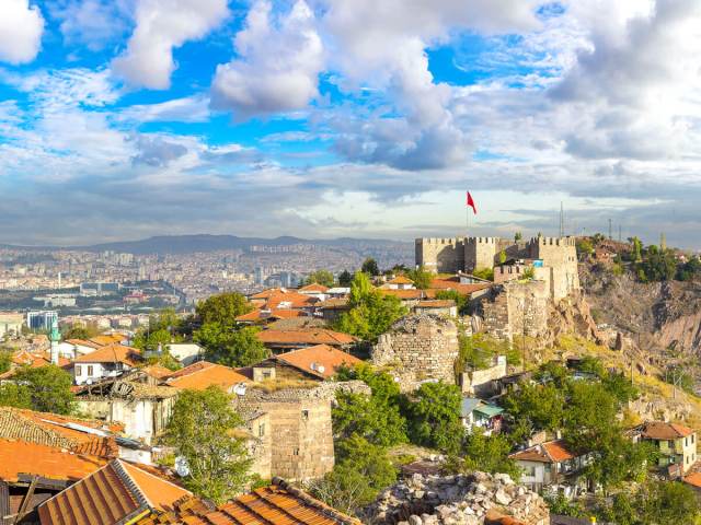
M355 369L342 369L338 381L360 380L371 389L370 396L338 393L333 409L336 440L358 435L369 443L392 446L406 441L406 420L399 409L399 386L383 372L375 372L366 363Z

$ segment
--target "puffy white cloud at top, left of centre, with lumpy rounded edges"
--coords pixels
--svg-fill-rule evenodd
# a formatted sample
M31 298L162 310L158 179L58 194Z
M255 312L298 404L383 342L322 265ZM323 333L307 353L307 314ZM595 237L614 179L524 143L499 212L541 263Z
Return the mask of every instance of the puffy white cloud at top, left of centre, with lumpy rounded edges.
M314 14L303 0L274 16L272 4L256 1L234 39L239 58L217 67L212 105L242 120L303 108L318 95L323 46Z

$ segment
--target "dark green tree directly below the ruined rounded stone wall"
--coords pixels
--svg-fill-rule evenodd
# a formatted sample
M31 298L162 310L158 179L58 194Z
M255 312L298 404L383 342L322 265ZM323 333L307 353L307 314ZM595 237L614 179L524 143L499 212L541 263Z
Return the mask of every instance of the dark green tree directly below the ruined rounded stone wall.
M460 421L462 395L455 385L424 383L406 405L410 436L414 444L455 453L464 430Z

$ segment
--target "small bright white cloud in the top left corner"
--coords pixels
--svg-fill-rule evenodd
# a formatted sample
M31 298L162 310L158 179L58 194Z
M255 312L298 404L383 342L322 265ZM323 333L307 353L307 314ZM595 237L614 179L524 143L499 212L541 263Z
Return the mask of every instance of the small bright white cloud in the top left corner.
M0 60L25 63L34 60L42 46L44 19L28 0L0 2Z

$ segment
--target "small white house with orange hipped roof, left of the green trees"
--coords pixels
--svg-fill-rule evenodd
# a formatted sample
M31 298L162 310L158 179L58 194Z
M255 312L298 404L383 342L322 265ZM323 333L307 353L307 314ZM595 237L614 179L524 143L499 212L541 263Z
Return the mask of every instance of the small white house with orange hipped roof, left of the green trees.
M108 345L73 361L73 378L77 385L95 383L105 377L116 377L134 369L141 361L138 349L122 345Z

